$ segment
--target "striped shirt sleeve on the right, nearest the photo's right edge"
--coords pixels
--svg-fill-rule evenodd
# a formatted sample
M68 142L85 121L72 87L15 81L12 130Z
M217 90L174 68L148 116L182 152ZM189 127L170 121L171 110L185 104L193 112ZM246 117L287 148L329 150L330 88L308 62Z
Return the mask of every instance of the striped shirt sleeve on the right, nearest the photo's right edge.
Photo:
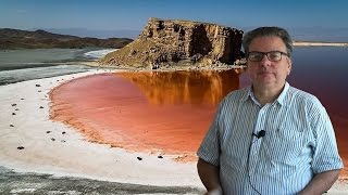
M312 161L313 172L341 169L344 165L338 154L335 132L328 114L322 105L316 108L314 113L318 112L318 115L314 115L312 120L312 128L316 134Z

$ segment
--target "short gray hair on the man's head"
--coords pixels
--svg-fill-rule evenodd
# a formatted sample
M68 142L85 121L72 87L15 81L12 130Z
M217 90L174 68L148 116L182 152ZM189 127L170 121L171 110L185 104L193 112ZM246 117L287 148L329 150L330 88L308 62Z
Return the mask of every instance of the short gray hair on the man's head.
M249 46L251 41L258 37L278 37L283 40L287 54L291 56L293 40L289 34L284 28L279 27L260 27L248 31L243 38L243 48L246 54L249 53Z

